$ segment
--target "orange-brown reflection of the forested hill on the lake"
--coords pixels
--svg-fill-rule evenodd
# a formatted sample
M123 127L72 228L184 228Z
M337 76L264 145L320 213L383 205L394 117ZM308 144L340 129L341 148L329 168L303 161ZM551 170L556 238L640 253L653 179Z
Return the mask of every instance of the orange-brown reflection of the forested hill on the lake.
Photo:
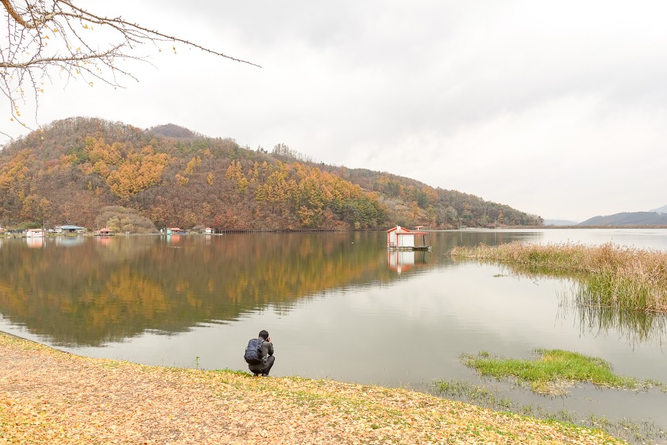
M37 252L10 242L0 252L0 312L62 345L183 332L329 288L389 281L378 261L385 249L358 235L55 238Z

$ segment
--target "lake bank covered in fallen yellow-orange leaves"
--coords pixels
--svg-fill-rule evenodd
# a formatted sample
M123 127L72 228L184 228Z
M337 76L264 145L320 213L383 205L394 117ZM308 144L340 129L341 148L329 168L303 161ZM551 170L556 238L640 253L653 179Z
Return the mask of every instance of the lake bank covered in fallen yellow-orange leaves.
M626 443L404 389L91 359L0 332L0 442Z

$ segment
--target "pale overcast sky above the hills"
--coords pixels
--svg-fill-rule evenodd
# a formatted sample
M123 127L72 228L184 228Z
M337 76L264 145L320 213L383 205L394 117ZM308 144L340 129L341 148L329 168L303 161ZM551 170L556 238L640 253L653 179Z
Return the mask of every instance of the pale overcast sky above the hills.
M667 204L665 1L101 3L78 2L262 68L143 46L153 66L126 65L139 82L125 89L56 77L39 123L83 115L282 142L543 218Z

